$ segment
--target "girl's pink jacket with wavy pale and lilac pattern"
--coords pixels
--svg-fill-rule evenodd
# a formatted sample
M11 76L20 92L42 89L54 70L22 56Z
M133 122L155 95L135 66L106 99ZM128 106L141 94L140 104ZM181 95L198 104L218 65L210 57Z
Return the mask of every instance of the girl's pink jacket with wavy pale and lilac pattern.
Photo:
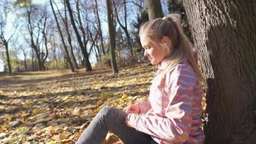
M160 81L160 72L168 64L164 59L157 70L149 101L139 101L141 115L134 115L136 130L152 136L159 144L203 144L200 128L202 90L188 61L177 64ZM128 120L131 116L128 116Z

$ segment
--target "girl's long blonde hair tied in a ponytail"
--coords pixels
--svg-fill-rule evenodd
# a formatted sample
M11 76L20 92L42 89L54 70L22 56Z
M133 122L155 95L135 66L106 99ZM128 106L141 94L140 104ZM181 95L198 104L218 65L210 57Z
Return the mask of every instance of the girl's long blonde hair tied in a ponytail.
M164 36L168 37L171 41L172 46L169 48L171 61L161 73L162 76L181 63L181 61L187 59L193 67L200 84L205 82L203 74L193 56L192 44L182 30L179 14L171 13L164 18L147 21L140 27L139 36L141 37L142 35L158 44L160 44Z

